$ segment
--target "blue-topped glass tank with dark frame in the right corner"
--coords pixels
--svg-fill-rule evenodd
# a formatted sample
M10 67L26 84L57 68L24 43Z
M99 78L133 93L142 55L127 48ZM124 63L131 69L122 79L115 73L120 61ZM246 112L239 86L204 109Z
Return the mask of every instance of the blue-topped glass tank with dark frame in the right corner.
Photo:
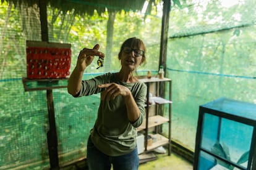
M199 109L194 169L255 169L256 105L221 98Z

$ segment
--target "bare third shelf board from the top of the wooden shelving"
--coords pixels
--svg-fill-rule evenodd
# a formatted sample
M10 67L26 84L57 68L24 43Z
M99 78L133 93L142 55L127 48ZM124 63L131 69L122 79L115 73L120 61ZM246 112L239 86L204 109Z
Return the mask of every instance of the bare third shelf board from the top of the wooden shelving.
M166 122L169 122L169 119L164 118L163 116L160 116L160 115L150 116L148 118L148 128L158 126ZM140 125L140 127L137 128L137 131L142 131L143 129L146 129L146 119L144 119L142 125Z

